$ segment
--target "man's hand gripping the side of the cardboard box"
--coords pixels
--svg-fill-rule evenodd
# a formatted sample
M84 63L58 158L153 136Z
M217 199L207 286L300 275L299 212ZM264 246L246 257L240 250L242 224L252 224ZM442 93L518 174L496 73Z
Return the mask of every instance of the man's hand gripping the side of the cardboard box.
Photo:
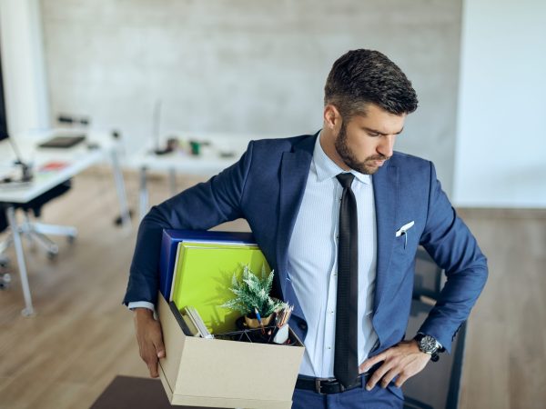
M152 378L157 378L158 358L165 357L165 346L163 345L163 334L161 324L154 319L154 314L147 308L135 308L136 341L140 357L146 362Z

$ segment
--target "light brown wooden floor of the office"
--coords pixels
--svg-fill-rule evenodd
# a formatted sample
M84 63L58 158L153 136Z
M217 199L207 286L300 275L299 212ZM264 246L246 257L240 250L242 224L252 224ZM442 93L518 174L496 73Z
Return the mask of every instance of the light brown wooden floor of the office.
M136 175L126 183L136 205ZM121 305L136 229L112 223L113 186L100 169L88 172L45 208L46 222L76 225L79 236L59 241L55 261L26 252L35 317L20 314L16 273L0 292L0 408L85 408L116 374L147 376ZM163 179L150 188L151 203L167 198ZM470 319L460 407L546 407L546 211L461 214L489 256L490 280Z

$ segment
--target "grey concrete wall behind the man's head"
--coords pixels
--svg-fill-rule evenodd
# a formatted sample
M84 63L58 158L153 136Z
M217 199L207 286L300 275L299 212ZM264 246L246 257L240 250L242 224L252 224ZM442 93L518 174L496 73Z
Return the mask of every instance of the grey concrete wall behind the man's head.
M52 115L91 115L132 145L161 129L298 135L319 129L339 55L389 55L420 109L399 150L453 177L460 1L41 0ZM130 148L130 147L129 147Z

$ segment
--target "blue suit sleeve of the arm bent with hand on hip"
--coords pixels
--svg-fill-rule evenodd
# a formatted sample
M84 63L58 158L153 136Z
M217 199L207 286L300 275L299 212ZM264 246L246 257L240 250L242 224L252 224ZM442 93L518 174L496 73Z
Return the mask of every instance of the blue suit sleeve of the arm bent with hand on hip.
M434 336L450 352L455 334L468 318L485 285L488 267L476 239L441 190L431 163L429 209L420 244L447 277L420 333Z

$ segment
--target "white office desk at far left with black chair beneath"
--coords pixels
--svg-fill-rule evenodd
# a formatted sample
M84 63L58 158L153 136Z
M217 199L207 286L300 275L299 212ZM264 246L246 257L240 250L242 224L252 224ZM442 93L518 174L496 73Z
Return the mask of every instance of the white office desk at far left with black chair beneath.
M74 134L74 131L70 131ZM125 185L117 160L117 146L109 135L86 132L88 141L67 149L38 148L37 144L48 139L52 135L63 135L68 131L48 131L34 135L18 135L15 144L22 155L22 159L31 164L34 170L34 178L28 185L0 185L0 202L5 206L5 214L13 234L15 254L19 274L21 275L21 287L25 297L25 316L34 314L32 296L28 284L26 272L25 254L19 234L19 224L15 218L15 205L25 204L35 197L42 195L52 187L59 185L72 176L85 170L91 165L96 165L108 160L112 165L115 176L116 191L118 195L122 221L126 228L130 228L130 218L126 202ZM88 148L88 143L96 147ZM16 160L15 151L8 140L0 142L0 170L13 165ZM44 165L52 162L63 163L58 169L42 170Z

